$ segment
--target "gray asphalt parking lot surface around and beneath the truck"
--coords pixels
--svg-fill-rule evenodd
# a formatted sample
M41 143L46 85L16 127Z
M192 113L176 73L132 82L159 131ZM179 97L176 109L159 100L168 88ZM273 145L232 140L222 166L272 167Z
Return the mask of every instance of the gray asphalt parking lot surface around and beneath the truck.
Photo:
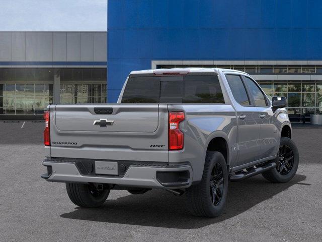
M193 217L185 195L111 191L102 208L72 204L45 172L43 123L0 122L0 241L321 241L322 129L293 129L300 165L287 184L230 183L224 213Z

